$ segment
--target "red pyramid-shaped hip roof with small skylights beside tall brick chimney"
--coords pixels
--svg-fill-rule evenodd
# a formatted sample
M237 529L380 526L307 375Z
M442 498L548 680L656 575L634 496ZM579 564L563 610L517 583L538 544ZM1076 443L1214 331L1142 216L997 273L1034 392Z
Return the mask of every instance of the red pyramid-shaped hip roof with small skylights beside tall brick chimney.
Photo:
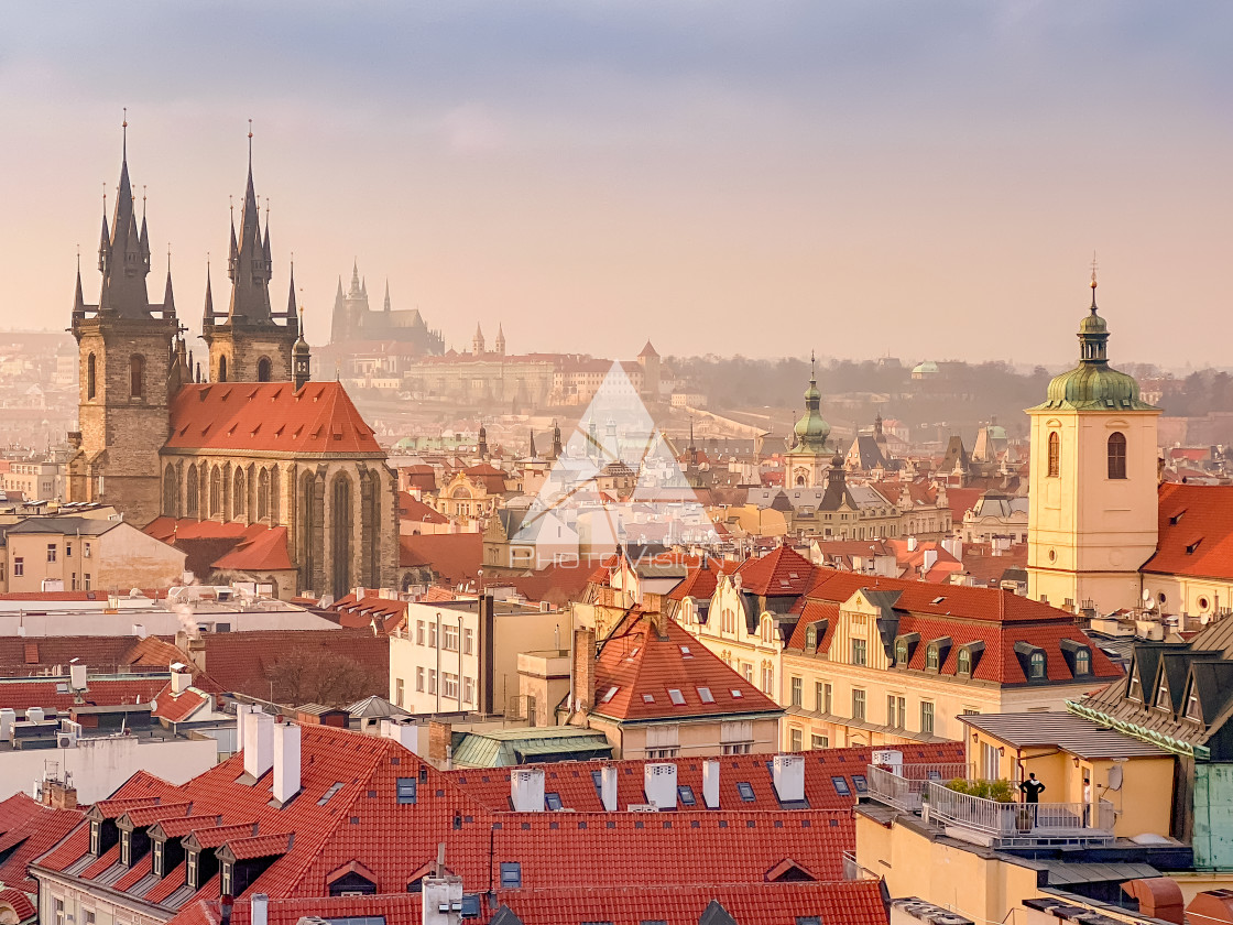
M782 713L679 625L666 618L661 623L662 635L649 615L631 613L604 641L596 659L593 713L626 723ZM681 703L673 702L672 691Z

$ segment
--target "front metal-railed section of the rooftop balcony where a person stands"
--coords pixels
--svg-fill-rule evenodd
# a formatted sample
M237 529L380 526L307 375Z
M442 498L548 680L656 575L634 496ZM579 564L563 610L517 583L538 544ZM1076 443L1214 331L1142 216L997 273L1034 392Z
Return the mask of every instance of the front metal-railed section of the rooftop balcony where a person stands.
M947 835L990 847L1113 842L1115 814L1108 800L1095 809L1085 803L999 803L957 793L936 781L926 783L925 800L930 823L944 828Z

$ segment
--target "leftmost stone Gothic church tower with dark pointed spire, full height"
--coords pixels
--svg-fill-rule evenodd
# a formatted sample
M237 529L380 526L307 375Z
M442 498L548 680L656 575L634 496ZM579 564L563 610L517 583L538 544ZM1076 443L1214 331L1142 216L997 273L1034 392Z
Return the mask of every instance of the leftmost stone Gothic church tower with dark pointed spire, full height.
M102 287L86 305L78 261L73 337L79 353L78 427L69 434L68 500L113 504L144 525L159 514L159 449L170 396L187 381L184 340L168 266L163 303L150 303L145 196L137 222L128 179L128 120L111 224L104 207L99 243Z

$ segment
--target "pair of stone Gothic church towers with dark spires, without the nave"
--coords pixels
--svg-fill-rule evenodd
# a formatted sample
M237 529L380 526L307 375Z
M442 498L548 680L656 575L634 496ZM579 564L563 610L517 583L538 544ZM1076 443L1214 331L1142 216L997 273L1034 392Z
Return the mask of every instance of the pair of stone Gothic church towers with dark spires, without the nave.
M168 268L163 302L147 291L150 271L145 200L138 222L128 178L127 121L111 223L106 211L99 243L102 286L97 305L86 305L78 265L72 332L80 361L79 430L69 435L70 501L106 501L147 523L159 513L159 449L170 435L170 403L180 388L201 381L192 369L176 314ZM253 185L252 132L248 184L239 233L232 218L227 274L231 303L216 312L207 274L202 337L210 349L211 382L281 382L300 388L308 380L308 345L300 337L295 280L286 311L270 303L270 227L260 227Z

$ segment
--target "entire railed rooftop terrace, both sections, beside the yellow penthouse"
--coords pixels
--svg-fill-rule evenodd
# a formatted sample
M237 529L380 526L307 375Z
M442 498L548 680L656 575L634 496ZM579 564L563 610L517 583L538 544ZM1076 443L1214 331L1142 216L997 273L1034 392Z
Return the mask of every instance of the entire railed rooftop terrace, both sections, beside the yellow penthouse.
M904 765L896 771L869 765L869 796L920 814L954 839L989 847L1113 842L1115 812L1108 800L1095 809L1083 803L999 803L947 788L947 781L968 779L968 765Z

